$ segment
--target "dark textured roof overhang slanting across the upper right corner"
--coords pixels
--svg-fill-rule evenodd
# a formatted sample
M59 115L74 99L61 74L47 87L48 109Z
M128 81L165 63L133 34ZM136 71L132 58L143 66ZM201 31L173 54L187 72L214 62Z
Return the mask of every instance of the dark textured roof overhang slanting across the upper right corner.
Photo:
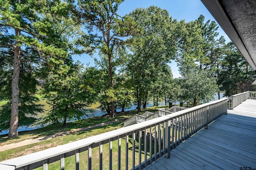
M201 1L256 71L256 1Z

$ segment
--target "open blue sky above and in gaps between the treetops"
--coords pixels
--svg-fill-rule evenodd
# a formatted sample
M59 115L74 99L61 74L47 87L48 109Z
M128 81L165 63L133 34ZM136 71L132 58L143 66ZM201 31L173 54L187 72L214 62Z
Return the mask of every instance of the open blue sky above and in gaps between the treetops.
M118 14L124 16L136 8L148 8L149 6L158 6L162 9L166 9L169 15L173 19L193 21L196 20L201 14L205 16L205 21L211 20L215 21L210 12L206 9L204 4L200 0L125 0L118 8ZM226 42L230 39L226 33L219 27L219 36L223 35L226 38ZM98 54L95 53L94 57L98 58ZM90 63L89 66L94 66L94 59L89 55L81 55L73 57L74 61L81 61L85 65ZM177 64L172 61L170 63L172 68L172 74L174 78L180 76Z

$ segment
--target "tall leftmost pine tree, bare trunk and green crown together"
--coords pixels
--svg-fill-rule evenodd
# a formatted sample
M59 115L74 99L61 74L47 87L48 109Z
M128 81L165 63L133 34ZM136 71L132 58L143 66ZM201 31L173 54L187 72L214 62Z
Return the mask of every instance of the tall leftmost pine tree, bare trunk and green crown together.
M18 136L18 106L20 64L24 61L38 64L48 61L59 65L67 57L60 48L60 36L53 25L59 16L68 16L70 4L51 0L1 0L0 41L2 48L13 51L12 109L8 138Z

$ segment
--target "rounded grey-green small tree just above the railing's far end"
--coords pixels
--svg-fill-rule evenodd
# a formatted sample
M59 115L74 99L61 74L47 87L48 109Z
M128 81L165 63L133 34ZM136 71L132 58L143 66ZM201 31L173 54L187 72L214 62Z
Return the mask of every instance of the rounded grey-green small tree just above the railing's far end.
M207 70L186 69L182 72L180 83L183 100L193 106L197 106L199 102L207 103L213 100L218 90L216 78Z

